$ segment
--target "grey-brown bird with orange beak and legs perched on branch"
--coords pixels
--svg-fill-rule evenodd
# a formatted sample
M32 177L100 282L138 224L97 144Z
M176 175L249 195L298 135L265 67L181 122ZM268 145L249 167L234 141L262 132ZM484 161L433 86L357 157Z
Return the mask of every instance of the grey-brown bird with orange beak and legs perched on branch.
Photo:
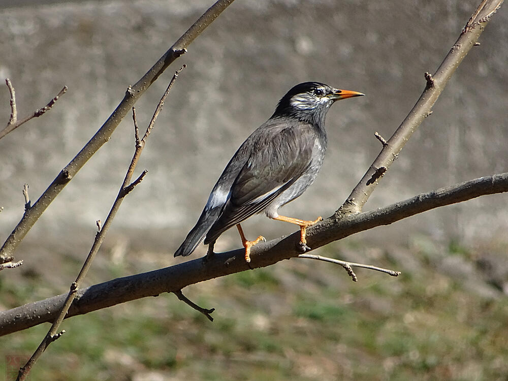
M238 148L215 183L208 201L175 257L188 256L203 241L207 258L217 238L236 225L250 262L250 248L263 236L249 241L240 225L265 212L268 218L300 227L300 244L310 250L306 229L322 220L303 220L278 214L283 205L301 196L321 169L327 148L325 118L338 100L360 97L357 91L340 90L321 82L292 87L278 102L273 115ZM250 265L249 265L250 267Z

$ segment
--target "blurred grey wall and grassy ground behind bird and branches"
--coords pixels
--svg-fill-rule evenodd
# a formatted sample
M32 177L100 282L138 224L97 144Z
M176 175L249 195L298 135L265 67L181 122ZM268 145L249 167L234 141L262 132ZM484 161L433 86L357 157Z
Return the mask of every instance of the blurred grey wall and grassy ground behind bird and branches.
M320 176L284 208L324 217L350 194L459 36L479 0L238 0L136 104L148 123L181 73L143 151L148 174L125 199L87 285L180 262L173 258L243 140L294 84L316 80L367 97L328 114ZM69 87L56 106L0 140L0 238L100 128L135 83L211 0L1 1L0 78L18 117ZM492 18L365 210L508 169L508 12ZM2 87L3 86L3 87ZM7 123L9 92L0 85ZM69 183L0 274L0 307L68 290L134 152L129 115ZM290 260L193 285L209 323L174 295L79 316L62 328L33 379L457 379L508 374L508 196L485 196L335 242L322 255L401 270ZM264 216L249 237L294 231ZM217 250L239 247L236 231ZM200 246L194 257L204 255ZM56 274L55 274L56 270ZM0 355L30 355L48 327L0 338ZM5 366L0 359L0 372ZM1 374L1 373L0 373Z

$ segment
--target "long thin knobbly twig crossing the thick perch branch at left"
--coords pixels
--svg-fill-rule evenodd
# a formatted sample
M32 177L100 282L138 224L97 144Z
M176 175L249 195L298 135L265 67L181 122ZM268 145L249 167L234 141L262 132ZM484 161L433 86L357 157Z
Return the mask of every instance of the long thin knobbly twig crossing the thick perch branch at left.
M175 82L175 79L177 77L177 73L173 76L173 79L171 80L168 89L164 93L163 97L161 98L161 101L158 103L156 107L156 112L154 113L154 116L152 117L152 120L150 121L150 124L148 125L145 136L142 139L142 144L138 144L138 141L135 142L135 151L134 155L131 160L131 164L129 165L129 169L127 170L127 173L125 174L125 178L123 179L123 183L120 187L120 190L118 192L118 196L116 197L115 202L113 203L113 206L111 207L111 210L109 211L109 214L104 221L104 226L101 227L100 221L97 221L97 227L98 232L96 234L96 237L93 241L92 247L90 249L90 252L88 253L88 256L85 259L85 262L83 263L83 266L81 268L81 271L79 272L78 276L76 277L76 280L71 284L71 288L69 290L69 293L67 294L66 300L63 303L63 306L61 306L61 309L56 316L56 319L53 322L53 325L49 329L47 335L42 340L41 344L37 348L37 350L34 352L34 354L30 357L28 362L19 369L18 373L18 380L22 381L26 378L27 374L29 373L30 369L34 366L34 364L37 362L37 360L41 357L41 355L44 353L46 348L56 340L58 337L61 336L57 333L61 323L63 322L63 319L65 319L66 314L69 311L69 308L71 307L75 297L76 297L76 291L79 288L79 285L81 284L81 281L86 276L88 270L90 269L90 266L92 264L93 259L96 257L97 252L99 251L99 248L101 247L102 242L104 241L104 238L106 236L106 233L108 232L113 219L116 216L116 213L118 209L120 208L120 205L124 199L124 197L131 192L131 190L141 182L144 175L146 174L146 171L144 171L137 180L131 183L132 180L132 174L134 172L134 169L136 168L136 165L138 164L139 157L141 156L141 152L143 151L144 143L146 141L146 138L150 134L151 129L153 128L153 125L155 123L155 120L157 119L158 114L161 112L162 107L164 106L164 100L168 97L169 90L173 83Z

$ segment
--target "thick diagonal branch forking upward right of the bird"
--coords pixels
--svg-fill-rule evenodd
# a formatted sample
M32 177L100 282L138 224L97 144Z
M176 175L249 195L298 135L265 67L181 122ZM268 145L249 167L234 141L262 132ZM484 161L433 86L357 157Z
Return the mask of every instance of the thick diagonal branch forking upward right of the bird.
M426 87L416 105L412 108L393 136L383 143L383 149L376 157L353 192L344 204L335 212L337 216L360 213L368 198L377 186L381 177L379 171L385 173L397 158L397 155L407 143L411 135L417 130L423 120L429 116L432 106L439 94L446 87L448 81L458 68L462 59L477 43L480 34L492 15L499 9L503 0L483 0L467 22L457 42L437 68L434 75L425 73Z

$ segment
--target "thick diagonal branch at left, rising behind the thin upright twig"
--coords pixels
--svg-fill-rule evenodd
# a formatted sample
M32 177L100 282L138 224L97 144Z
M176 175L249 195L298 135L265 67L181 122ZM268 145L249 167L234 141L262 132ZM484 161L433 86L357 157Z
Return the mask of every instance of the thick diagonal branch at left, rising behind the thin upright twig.
M196 21L173 46L152 66L150 70L133 86L129 86L125 97L115 111L102 125L99 131L81 149L73 160L63 168L37 202L26 212L0 249L0 264L13 260L12 254L26 233L36 223L46 208L53 202L61 190L71 181L88 159L106 143L116 126L131 110L146 89L168 68L168 66L210 25L234 0L218 0Z

